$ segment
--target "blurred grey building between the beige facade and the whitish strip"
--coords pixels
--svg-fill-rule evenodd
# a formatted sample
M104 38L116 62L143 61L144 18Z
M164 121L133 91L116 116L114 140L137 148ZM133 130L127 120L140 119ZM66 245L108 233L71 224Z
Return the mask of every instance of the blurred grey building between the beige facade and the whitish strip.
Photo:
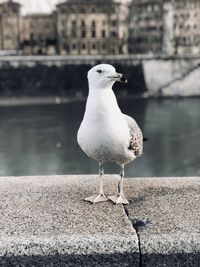
M129 7L129 53L161 53L163 0L133 0Z

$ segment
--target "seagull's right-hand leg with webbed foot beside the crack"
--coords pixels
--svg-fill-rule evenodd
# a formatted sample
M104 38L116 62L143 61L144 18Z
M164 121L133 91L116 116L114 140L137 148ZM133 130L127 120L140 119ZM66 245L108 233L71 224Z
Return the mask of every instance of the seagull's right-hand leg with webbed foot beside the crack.
M128 204L129 203L128 200L124 196L123 186L124 186L124 164L121 165L120 181L118 184L118 193L114 196L108 197L115 204Z

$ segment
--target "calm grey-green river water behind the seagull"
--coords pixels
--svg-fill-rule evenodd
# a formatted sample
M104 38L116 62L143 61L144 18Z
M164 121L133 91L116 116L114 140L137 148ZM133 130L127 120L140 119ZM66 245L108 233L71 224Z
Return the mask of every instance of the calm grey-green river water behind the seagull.
M200 175L200 99L123 99L148 141L126 167L128 177ZM93 174L98 165L78 147L85 102L0 107L0 175ZM118 173L115 164L106 173Z

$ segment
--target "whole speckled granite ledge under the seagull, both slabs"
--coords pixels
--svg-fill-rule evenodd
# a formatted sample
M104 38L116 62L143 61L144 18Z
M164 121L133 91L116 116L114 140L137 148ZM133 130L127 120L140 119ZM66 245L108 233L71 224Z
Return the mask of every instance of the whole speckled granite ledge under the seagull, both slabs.
M106 176L106 194L117 181ZM199 266L199 177L126 179L125 207L84 202L97 186L93 175L1 177L0 264Z

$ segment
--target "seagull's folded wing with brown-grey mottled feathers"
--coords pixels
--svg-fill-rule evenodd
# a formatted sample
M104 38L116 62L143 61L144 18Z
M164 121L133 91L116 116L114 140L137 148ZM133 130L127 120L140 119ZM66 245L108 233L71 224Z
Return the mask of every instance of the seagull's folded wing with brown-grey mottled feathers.
M130 143L128 150L132 150L136 157L142 155L143 151L143 135L136 121L130 116L123 114L130 129Z

